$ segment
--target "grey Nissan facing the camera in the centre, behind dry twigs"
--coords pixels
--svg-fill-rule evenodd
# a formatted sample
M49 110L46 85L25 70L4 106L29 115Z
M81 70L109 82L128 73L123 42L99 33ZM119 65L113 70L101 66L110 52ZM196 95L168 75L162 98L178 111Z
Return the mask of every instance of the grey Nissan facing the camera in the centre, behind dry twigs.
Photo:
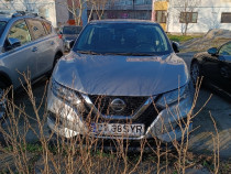
M182 139L176 121L191 109L188 84L187 66L160 24L92 21L53 72L47 124L64 138L169 143Z

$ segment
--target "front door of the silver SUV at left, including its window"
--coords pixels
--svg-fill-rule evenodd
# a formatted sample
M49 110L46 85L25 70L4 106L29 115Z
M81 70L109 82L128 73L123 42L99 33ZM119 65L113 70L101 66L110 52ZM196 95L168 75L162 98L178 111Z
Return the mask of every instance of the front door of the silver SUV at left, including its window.
M18 40L20 44L12 47L9 42L10 40ZM24 20L19 20L12 24L6 37L3 48L4 53L1 54L1 61L10 69L12 80L15 84L14 87L21 85L19 78L23 80L20 74L30 73L30 77L34 77L35 72L33 69L33 59L31 58L33 57L34 44Z

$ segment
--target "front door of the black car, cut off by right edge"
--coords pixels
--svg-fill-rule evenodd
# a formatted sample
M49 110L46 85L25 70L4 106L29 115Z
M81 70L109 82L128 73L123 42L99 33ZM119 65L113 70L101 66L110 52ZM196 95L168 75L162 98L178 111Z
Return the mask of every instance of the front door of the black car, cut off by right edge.
M231 94L231 42L222 45L218 52L219 83L222 89Z

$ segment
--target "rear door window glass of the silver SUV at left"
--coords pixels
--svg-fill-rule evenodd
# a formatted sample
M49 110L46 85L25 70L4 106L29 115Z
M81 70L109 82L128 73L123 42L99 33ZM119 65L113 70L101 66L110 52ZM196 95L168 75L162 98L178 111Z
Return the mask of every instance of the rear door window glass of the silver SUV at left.
M28 21L29 21L29 28L31 29L35 40L46 35L45 29L41 21L38 20L28 20Z

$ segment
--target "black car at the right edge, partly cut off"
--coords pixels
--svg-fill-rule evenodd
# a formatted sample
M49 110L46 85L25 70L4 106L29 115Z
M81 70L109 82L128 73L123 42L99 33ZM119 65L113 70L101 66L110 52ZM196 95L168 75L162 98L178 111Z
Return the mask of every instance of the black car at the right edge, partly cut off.
M194 56L190 65L194 85L200 77L217 91L231 99L231 42Z

